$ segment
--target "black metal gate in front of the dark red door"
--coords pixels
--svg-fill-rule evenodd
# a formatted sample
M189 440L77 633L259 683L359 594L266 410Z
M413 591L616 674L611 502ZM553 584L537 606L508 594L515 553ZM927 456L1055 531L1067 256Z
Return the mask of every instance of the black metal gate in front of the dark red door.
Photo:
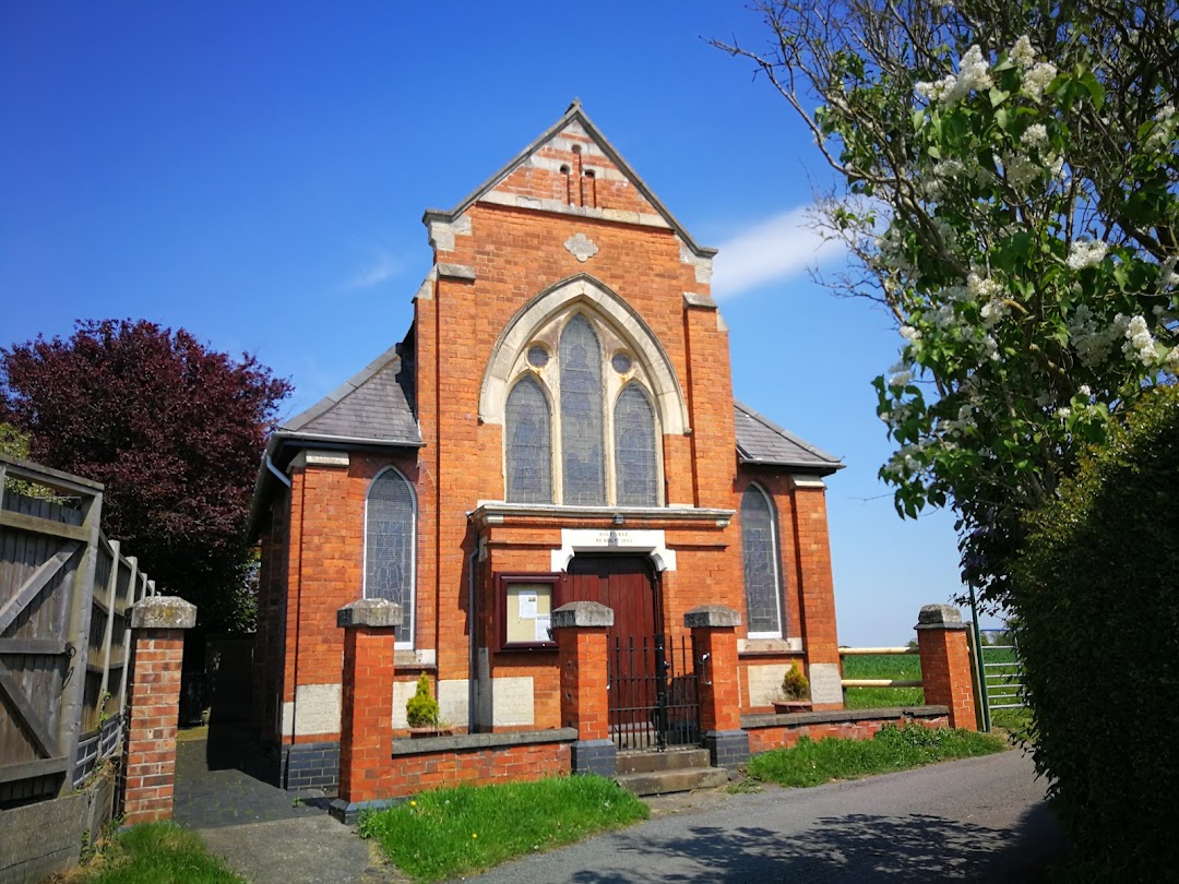
M615 639L608 651L610 733L619 751L700 745L700 673L692 639Z

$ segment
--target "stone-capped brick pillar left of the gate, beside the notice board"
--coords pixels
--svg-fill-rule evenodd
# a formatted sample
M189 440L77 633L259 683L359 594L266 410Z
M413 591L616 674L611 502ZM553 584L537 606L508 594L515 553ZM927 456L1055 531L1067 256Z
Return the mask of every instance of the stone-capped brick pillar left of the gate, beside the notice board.
M614 625L614 612L597 601L574 601L556 608L551 622L561 672L561 726L578 728L573 772L613 777L618 766L610 739L606 631Z

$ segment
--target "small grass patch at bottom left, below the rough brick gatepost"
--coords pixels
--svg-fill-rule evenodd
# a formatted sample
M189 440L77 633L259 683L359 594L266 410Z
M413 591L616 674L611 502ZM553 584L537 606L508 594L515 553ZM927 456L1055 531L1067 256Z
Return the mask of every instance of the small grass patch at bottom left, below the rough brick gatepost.
M204 842L174 823L143 823L94 845L94 856L54 880L68 884L246 884Z

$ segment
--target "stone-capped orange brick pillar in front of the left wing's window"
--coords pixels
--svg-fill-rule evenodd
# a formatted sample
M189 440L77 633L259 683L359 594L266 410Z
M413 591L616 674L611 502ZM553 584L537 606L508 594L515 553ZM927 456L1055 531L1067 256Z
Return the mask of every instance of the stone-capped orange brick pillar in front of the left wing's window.
M381 774L393 765L393 674L401 606L362 599L336 612L344 631L340 721L340 790L334 817L350 822L380 798Z

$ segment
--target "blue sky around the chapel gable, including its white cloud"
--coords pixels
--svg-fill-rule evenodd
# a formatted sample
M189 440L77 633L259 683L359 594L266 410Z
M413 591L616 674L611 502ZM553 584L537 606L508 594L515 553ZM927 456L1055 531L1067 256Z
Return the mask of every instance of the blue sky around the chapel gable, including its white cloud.
M830 183L785 103L704 38L738 0L0 5L0 345L146 317L290 377L294 415L401 339L421 225L574 97L698 242L737 395L841 455L839 638L904 641L960 588L950 514L902 522L871 378L891 321L814 285Z

